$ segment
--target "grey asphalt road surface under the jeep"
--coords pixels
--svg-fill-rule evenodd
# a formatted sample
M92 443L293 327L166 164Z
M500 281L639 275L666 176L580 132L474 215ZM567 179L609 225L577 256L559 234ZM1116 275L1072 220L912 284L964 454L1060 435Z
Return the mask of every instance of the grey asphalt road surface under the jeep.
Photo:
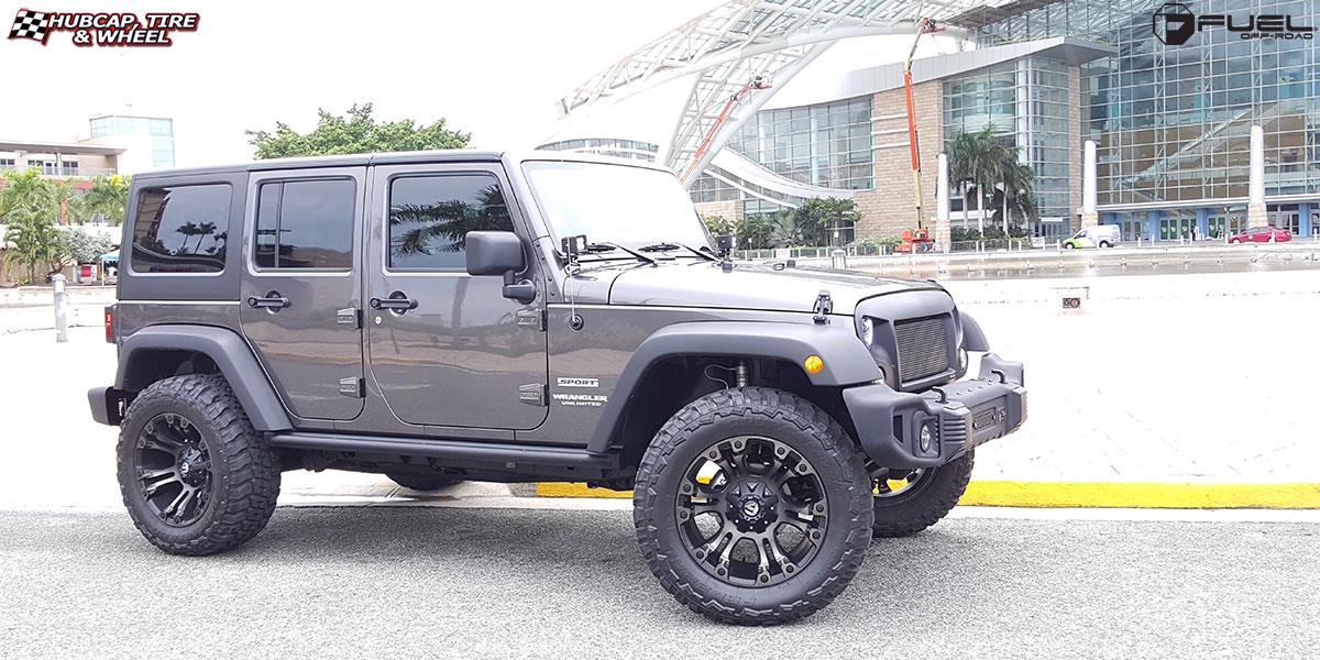
M1305 657L1320 524L950 519L832 607L690 614L623 511L281 507L170 557L121 513L0 513L0 656Z

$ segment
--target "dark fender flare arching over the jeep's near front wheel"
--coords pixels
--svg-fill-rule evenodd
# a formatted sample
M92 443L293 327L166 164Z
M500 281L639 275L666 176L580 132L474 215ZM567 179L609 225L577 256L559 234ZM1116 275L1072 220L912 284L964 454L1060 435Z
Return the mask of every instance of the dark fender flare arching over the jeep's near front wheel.
M813 385L855 385L883 378L875 358L853 331L851 323L789 323L779 321L692 321L675 323L645 338L628 359L614 395L605 405L590 451L605 453L636 396L638 383L665 358L709 355L783 359L803 366L818 355L824 367L807 374Z

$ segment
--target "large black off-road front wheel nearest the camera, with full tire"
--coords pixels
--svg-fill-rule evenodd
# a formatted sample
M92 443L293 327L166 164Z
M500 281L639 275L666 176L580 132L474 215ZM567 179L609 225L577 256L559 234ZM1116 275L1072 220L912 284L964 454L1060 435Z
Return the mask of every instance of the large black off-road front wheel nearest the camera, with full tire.
M870 543L871 478L853 438L788 392L723 389L647 449L634 524L651 572L711 619L764 626L829 605Z

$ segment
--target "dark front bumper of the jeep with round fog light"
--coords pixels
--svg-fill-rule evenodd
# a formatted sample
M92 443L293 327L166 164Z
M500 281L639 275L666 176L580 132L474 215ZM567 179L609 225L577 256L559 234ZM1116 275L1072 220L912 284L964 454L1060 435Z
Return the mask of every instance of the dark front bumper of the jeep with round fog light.
M993 352L981 358L975 379L896 392L888 385L843 391L862 450L875 465L913 470L939 467L990 440L1007 436L1027 418L1020 362Z

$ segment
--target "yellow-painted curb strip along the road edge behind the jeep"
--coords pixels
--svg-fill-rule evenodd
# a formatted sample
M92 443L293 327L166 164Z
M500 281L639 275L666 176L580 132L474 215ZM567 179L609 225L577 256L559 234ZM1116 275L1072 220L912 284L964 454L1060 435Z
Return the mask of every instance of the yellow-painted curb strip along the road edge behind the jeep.
M536 484L543 498L631 498L582 483ZM960 504L1093 508L1320 508L1320 483L974 480Z

